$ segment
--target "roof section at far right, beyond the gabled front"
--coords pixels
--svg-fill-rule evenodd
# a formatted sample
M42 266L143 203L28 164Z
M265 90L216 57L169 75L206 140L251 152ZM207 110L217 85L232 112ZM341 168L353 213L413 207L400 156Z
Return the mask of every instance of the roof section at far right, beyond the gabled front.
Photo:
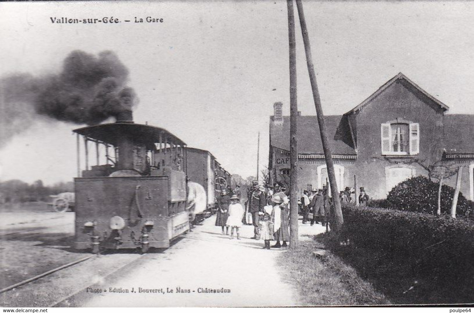
M446 114L443 123L447 154L474 153L474 115Z

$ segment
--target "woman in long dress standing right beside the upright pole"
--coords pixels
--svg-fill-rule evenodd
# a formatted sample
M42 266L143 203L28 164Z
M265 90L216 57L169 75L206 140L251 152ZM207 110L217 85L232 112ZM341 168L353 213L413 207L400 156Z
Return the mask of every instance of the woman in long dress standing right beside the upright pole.
M272 221L274 225L274 237L276 244L272 248L286 247L286 241L290 240L290 209L288 204L290 200L287 195L281 190L281 186L278 184L275 186L275 193L270 199L273 205ZM283 241L283 245L280 244Z

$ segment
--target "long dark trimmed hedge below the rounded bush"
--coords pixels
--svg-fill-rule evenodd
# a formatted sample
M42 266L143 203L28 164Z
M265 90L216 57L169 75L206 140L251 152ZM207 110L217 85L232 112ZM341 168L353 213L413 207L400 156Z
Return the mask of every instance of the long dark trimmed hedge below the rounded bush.
M368 276L385 276L385 283L398 280L402 302L407 299L402 289L414 280L419 282L419 303L474 301L472 221L354 206L343 213L341 235L350 244L336 249L349 249L347 256L361 263L355 267Z

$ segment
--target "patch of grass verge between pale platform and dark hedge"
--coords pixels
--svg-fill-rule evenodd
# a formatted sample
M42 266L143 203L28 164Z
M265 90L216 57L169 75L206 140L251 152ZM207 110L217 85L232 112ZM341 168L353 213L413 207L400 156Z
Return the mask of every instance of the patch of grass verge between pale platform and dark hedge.
M316 258L313 251L320 246L315 240L301 241L297 249L286 250L277 259L284 278L297 288L301 305L390 304L341 258L329 251Z

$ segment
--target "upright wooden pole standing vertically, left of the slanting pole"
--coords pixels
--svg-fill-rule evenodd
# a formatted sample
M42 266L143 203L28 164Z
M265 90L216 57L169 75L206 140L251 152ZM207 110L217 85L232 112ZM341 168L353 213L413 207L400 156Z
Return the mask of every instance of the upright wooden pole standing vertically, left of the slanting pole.
M288 7L288 41L290 50L290 249L298 247L298 149L296 96L296 42L293 0L286 0Z

